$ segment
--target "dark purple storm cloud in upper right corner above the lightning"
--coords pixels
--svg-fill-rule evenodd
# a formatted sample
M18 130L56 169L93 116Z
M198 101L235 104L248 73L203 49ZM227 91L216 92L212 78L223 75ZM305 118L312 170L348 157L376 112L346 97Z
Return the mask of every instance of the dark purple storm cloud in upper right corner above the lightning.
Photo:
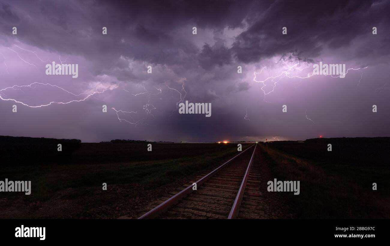
M371 35L373 26L388 31L389 12L388 1L276 1L237 37L233 50L245 63L292 50L315 57L325 47L346 47ZM287 35L282 35L282 27L287 27ZM380 46L385 54L390 52L388 39Z

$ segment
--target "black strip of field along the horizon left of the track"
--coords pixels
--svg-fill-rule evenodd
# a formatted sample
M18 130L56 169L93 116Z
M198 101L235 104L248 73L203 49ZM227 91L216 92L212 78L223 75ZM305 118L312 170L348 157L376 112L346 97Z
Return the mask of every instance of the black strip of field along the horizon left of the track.
M151 152L147 151L149 143ZM62 144L62 151L57 151L57 144ZM226 144L214 143L81 143L77 139L0 136L2 166L149 162L224 150Z

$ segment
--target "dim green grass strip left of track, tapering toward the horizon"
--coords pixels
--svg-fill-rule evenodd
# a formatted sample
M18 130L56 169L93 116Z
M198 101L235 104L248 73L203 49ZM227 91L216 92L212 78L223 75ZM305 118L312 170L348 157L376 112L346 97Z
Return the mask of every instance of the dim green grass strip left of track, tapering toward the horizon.
M5 178L31 180L31 195L24 198L44 201L49 200L59 190L102 186L102 183L140 183L147 189L151 189L228 160L236 154L237 147L232 147L220 153L156 162L2 167L0 180ZM4 192L1 195L4 197L21 194L21 192Z

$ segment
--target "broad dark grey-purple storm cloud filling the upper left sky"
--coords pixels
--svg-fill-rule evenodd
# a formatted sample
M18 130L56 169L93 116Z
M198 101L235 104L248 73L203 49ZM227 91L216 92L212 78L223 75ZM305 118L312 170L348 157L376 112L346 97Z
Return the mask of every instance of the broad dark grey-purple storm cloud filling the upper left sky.
M23 9L34 21L13 14ZM28 44L64 53L82 54L96 61L104 55L106 65L120 55L152 63L174 64L195 59L193 44L176 38L172 31L181 26L223 28L242 25L248 5L236 1L43 1L38 6L22 1L13 7L3 4L8 25L2 34L11 37L9 26L20 26L20 35ZM12 18L8 18L8 16ZM101 35L106 26L108 34ZM191 30L188 30L191 35ZM121 43L121 39L125 42ZM175 51L172 50L174 47ZM176 51L188 54L177 61Z

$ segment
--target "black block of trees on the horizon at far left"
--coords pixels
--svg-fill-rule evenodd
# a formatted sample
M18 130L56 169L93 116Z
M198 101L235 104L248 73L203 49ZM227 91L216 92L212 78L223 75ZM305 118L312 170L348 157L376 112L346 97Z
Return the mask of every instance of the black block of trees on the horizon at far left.
M80 147L79 139L0 136L0 165L65 163Z

